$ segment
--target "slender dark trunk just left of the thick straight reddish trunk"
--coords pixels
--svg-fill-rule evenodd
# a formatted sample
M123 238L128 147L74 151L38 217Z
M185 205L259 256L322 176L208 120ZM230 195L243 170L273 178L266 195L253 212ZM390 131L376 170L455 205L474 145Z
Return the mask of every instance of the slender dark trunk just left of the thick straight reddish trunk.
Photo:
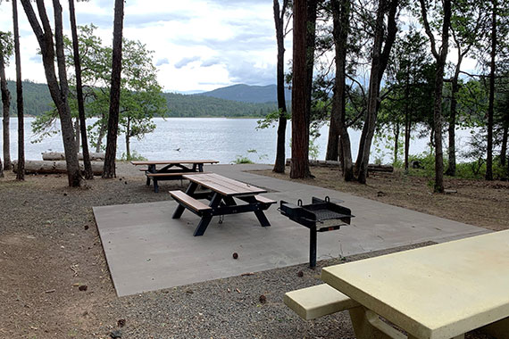
M274 21L276 24L276 40L278 42L278 110L280 111L280 121L278 125L278 142L276 146L276 161L273 171L276 173L285 172L285 138L287 132L287 103L285 98L285 32L284 18L287 10L288 0L283 1L280 10L279 0L274 0Z

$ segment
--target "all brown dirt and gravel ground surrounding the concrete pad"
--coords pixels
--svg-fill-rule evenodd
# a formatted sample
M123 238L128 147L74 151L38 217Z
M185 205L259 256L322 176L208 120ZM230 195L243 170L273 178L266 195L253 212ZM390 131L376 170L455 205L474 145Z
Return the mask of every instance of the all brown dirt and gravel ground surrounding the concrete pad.
M0 338L354 338L345 312L304 322L282 303L284 292L318 284L320 267L334 260L118 298L92 207L169 200L133 168L120 163L118 178L81 188L68 187L65 176L0 178ZM423 178L377 174L361 186L344 184L335 170L313 174L306 184L490 229L509 225L507 183L447 180L457 193L438 195ZM164 183L161 191L171 188L182 187Z

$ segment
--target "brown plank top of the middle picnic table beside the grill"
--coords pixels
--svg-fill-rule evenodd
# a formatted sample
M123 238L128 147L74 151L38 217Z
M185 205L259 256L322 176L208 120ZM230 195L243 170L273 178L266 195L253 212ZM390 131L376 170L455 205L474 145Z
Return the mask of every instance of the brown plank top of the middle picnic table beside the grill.
M222 177L215 173L184 175L182 178L186 178L189 181L193 181L198 185L207 187L222 195L255 195L267 192L263 188Z

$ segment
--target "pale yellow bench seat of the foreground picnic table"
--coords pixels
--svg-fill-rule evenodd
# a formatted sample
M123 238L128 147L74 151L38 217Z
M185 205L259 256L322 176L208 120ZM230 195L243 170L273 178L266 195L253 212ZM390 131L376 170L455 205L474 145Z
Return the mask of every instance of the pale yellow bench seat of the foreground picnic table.
M283 301L305 320L327 316L359 304L327 284L301 288L285 294Z

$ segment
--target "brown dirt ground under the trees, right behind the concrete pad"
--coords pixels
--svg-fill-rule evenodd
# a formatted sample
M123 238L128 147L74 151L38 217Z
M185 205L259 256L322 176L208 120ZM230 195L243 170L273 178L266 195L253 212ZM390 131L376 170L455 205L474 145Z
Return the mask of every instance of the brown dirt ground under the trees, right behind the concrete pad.
M509 182L445 178L447 194L432 194L431 178L394 173L370 173L367 185L346 183L333 168L312 167L315 178L296 180L362 196L380 203L432 214L438 217L485 227L495 231L509 228ZM274 178L289 178L271 170L254 171Z

